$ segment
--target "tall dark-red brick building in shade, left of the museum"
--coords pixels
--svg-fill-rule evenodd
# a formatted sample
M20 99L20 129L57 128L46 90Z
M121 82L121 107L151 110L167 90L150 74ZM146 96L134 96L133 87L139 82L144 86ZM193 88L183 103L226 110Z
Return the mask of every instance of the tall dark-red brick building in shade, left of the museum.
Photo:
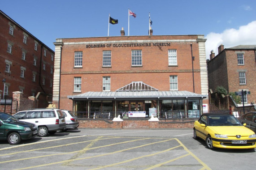
M38 107L48 106L52 102L54 51L2 11L0 23L1 98L11 99L18 91L24 98L36 97ZM2 99L1 107L3 103Z

